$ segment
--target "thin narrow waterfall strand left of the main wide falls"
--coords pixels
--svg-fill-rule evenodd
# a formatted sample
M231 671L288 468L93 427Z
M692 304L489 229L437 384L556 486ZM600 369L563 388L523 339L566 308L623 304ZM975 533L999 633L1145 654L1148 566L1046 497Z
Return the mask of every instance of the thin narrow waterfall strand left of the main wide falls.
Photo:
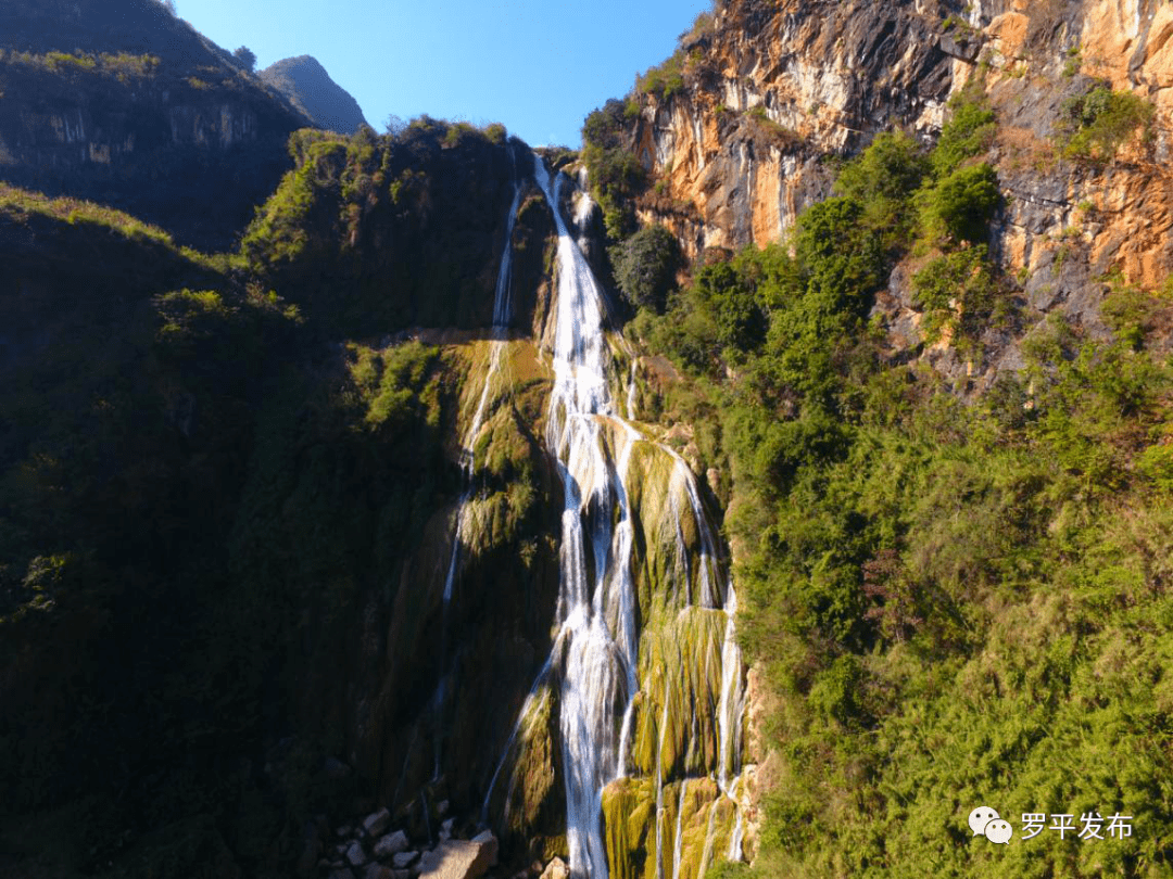
M448 568L443 582L443 608L440 627L440 680L433 696L433 714L436 718L436 734L433 748L433 779L440 777L441 738L443 730L443 707L448 696L448 672L443 667L448 662L448 608L452 604L453 585L456 580L456 571L460 561L460 546L463 534L468 529L468 516L470 512L469 500L475 488L474 481L474 454L476 440L481 428L484 425L484 414L488 408L489 396L493 393L493 382L497 373L501 372L501 360L508 346L509 321L513 319L511 291L510 291L510 267L513 264L513 230L517 219L517 207L521 204L522 185L516 179L514 171L514 196L509 203L509 213L506 218L506 240L501 250L501 266L497 270L497 282L493 294L493 328L489 341L489 366L484 370L484 384L481 388L481 396L477 400L473 420L468 430L461 440L460 466L463 477L463 489L460 499L456 502L456 527L452 536L452 551L448 554Z

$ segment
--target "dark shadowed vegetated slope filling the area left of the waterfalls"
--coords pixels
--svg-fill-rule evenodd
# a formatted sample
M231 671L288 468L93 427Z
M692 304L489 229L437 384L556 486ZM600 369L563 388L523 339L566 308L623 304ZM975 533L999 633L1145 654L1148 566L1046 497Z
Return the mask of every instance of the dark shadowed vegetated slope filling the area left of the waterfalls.
M476 391L460 349L371 340L488 323L506 139L427 118L398 137L298 132L294 171L231 254L0 184L18 354L0 359L6 866L287 874L307 819L372 796L358 774L323 770L327 755L354 761L347 690L368 674L348 670L354 633L378 613L384 632L399 627L394 673L434 673L427 591L393 608L401 584L426 579L405 574L420 547L448 539L434 513L461 477L445 437ZM542 247L524 245L547 229L523 207L518 291L537 286ZM541 642L557 570L542 515L554 477L530 432L543 373L531 355L507 372L469 529L495 588L472 566L457 588L470 619L501 632L494 614L521 599L500 590L523 585L538 634L521 634ZM379 708L373 741L396 735L392 713L415 699L393 689L402 702Z

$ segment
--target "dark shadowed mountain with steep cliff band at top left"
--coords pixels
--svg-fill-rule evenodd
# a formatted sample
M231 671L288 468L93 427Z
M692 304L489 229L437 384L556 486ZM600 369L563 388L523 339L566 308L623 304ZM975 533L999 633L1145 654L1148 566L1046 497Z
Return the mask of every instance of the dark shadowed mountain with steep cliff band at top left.
M223 247L310 124L226 52L148 0L6 4L0 177L99 200Z

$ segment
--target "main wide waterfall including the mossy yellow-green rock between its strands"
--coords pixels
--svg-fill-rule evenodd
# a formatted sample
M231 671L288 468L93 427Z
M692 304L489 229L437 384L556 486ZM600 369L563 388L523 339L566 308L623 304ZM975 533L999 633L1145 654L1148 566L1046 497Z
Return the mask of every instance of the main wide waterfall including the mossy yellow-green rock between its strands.
M667 845L663 836L671 833L672 877L683 879L686 789L690 782L705 781L694 774L686 778L685 763L701 774L708 772L717 784L706 783L719 788L716 796L730 799L733 798L731 772L735 776L740 768L744 669L733 641L735 597L732 584L721 593L717 541L692 471L679 455L621 417L612 401L612 361L604 335L603 293L562 218L560 198L565 178L558 175L551 184L536 155L534 176L557 229L554 388L545 442L563 484L560 591L554 649L526 699L493 775L484 815L488 816L493 788L507 758L515 747L524 747L517 743L531 735L538 706L543 700L552 700L549 694L556 690L571 877L606 879L608 847L602 832L604 789L622 782L629 772L651 777L655 771L655 856L663 864L663 846ZM578 198L574 220L582 231L591 204L583 193ZM632 379L633 374L635 370ZM632 396L629 391L624 401L629 417ZM644 509L653 503L662 505L658 517ZM639 505L643 518L637 511ZM652 520L665 517L673 522ZM637 532L643 537L644 551L656 553L660 560L656 565L647 559L633 559ZM653 536L656 547L647 545L649 534ZM696 553L696 558L690 553ZM650 575L647 571L656 567L663 572L658 575L670 580L663 594L643 599L644 605L652 601L658 609L640 604L637 566L645 579ZM640 633L649 613L657 614L657 625L664 633L656 635L657 643L670 645L679 629L696 632L698 646L690 650L673 645L660 650L658 659L651 653L645 655ZM724 626L718 628L721 618ZM719 649L718 632L724 634ZM719 683L711 674L717 662ZM718 687L719 706L714 704ZM638 708L640 699L644 704ZM653 704L658 706L655 713L650 710ZM707 718L698 716L698 704ZM714 708L717 717L712 717ZM690 709L687 729L680 735L670 732L673 718ZM703 725L713 731L707 741L719 740L719 744L713 741L707 750L698 742ZM646 755L640 756L642 751L632 752L636 740L645 742L649 736L657 741L655 769L647 765ZM679 742L682 736L687 741ZM515 756L506 796L507 820L518 763ZM665 827L663 819L669 774L679 778L680 785L674 827ZM705 817L706 853L699 872L704 872L713 847L716 811L713 802ZM740 854L739 845L735 854ZM663 874L663 866L658 872Z

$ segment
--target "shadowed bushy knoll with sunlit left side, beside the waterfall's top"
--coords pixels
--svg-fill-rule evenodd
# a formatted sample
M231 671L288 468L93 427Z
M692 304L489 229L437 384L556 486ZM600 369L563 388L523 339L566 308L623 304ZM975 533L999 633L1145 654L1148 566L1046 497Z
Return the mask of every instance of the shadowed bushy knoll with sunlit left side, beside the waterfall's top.
M422 116L398 134L304 129L289 149L293 170L240 243L260 284L341 334L482 325L494 284L484 267L509 204L499 184L513 173L503 125Z

